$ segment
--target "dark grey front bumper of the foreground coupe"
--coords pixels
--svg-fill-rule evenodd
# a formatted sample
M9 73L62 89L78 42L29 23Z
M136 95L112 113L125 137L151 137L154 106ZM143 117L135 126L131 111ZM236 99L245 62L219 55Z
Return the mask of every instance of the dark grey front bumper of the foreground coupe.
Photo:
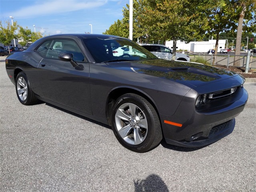
M226 104L224 101L227 100L229 102ZM192 99L184 97L173 116L160 114L164 138L168 144L183 147L214 143L233 132L234 118L244 110L247 100L248 93L242 86L229 98L212 102L208 109L196 110ZM182 126L166 124L164 120Z

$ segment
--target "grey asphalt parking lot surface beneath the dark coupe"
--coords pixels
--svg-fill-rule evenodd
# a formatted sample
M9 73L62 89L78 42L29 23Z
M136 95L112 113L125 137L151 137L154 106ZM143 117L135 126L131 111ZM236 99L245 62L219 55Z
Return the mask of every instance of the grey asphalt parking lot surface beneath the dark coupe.
M0 191L256 192L256 83L234 132L204 148L164 141L138 154L110 127L41 102L20 104L0 57Z

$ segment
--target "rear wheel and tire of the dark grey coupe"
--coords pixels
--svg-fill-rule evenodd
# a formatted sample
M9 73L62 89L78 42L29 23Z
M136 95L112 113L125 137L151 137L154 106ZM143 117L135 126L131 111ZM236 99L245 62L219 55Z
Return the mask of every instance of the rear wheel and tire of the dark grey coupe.
M20 72L15 80L16 94L18 100L24 105L32 105L38 102L34 92L30 88L30 83L24 72Z

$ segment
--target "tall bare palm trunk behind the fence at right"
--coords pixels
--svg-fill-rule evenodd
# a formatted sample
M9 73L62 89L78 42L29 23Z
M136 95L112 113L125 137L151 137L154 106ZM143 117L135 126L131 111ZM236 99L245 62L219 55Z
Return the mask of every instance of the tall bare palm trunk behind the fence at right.
M242 30L243 30L243 20L244 20L244 10L242 10L242 12L240 13L239 20L238 20L235 55L240 55ZM240 66L240 60L239 59L240 59L240 56L235 56L234 66Z

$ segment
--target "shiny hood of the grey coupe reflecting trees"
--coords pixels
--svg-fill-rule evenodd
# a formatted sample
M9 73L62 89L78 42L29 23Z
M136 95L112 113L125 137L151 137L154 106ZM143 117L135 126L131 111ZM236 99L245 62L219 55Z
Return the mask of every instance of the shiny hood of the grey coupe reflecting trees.
M152 59L129 62L107 62L106 64L119 70L156 76L192 86L202 86L235 76L238 76L237 78L241 84L244 82L243 78L234 72L191 62Z

